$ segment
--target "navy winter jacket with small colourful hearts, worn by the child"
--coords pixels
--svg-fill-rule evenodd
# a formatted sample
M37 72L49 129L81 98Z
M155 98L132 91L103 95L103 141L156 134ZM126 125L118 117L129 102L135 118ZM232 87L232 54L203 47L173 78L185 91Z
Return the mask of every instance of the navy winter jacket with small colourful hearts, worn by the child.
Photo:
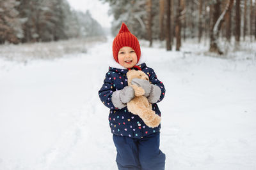
M160 87L161 96L157 103L162 101L165 94L163 83L157 79L154 70L147 67L145 63L140 64L139 67L141 67L141 70L148 75L150 83ZM128 85L126 76L127 71L128 69L109 67L104 84L99 90L99 97L102 103L110 109L109 126L113 134L118 136L129 136L131 138L143 138L143 136L159 132L161 125L155 128L150 128L145 125L138 115L133 115L129 112L127 107L120 110L115 108L111 101L112 94L115 90L122 90ZM161 116L161 112L156 103L152 104L152 110L156 111L156 114Z

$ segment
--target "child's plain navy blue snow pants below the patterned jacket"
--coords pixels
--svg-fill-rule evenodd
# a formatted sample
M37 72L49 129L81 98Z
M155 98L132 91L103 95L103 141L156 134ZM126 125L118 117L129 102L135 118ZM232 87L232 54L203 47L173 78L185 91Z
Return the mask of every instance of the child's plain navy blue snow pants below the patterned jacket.
M119 170L163 170L165 155L159 150L159 132L141 139L116 136L116 164Z

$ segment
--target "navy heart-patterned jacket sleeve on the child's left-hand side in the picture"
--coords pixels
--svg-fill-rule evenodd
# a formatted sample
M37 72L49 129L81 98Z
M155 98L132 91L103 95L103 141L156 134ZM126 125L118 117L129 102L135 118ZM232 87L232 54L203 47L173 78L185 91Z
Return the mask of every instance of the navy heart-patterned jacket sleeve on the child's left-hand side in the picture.
M109 76L109 72L106 73L106 78L104 79L104 83L99 90L99 97L102 103L107 106L109 109L114 109L115 106L111 101L111 97L113 92L115 92L115 87L113 86L113 80L111 76Z

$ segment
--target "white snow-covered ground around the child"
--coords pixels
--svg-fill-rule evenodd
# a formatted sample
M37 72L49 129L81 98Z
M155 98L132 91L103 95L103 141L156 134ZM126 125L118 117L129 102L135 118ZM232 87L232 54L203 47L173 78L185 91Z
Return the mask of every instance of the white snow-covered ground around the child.
M0 57L1 170L117 169L98 96L111 41L54 60ZM221 59L205 56L203 45L166 52L144 43L147 65L166 87L166 169L256 169L256 51Z

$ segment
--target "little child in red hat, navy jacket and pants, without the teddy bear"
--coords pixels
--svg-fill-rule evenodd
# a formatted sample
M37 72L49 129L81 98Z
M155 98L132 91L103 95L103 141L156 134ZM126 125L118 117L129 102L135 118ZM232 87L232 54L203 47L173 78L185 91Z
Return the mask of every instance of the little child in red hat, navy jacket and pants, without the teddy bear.
M134 79L134 83L145 90L145 97L152 103L152 110L161 116L156 103L162 101L164 85L157 79L154 70L146 66L136 36L123 23L113 41L113 66L109 67L99 97L109 111L109 126L116 146L118 169L162 170L165 155L159 150L160 125L150 128L138 115L127 110L134 97L134 90L127 86L126 73L129 69L145 72L149 81Z

